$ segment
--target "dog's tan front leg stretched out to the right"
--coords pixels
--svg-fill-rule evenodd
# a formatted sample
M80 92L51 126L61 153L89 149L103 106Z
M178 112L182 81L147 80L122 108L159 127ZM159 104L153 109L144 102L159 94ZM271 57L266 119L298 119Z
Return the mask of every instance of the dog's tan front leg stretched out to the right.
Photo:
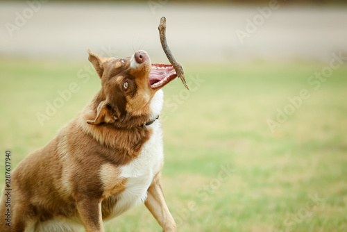
M147 199L144 201L144 204L158 221L160 226L162 226L162 231L176 231L176 223L165 203L158 175L155 176L147 190Z

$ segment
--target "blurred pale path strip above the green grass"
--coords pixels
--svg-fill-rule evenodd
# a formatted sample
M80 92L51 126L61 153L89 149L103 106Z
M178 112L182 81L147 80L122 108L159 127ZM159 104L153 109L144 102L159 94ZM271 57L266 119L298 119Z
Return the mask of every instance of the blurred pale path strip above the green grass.
M246 19L260 15L257 6L47 2L11 37L6 23L15 25L16 12L28 8L26 2L0 3L0 56L83 59L90 48L124 57L141 48L153 62L165 62L158 35L162 16L169 46L183 62L327 61L332 52L347 51L347 8L280 6L244 44L236 31L246 31Z

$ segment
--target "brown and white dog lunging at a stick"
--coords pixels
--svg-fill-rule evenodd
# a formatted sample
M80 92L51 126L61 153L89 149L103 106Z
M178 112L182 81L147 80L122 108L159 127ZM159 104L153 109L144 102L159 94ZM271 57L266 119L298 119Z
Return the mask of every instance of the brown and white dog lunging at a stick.
M0 231L104 231L103 220L144 201L163 231L176 224L160 187L163 165L161 88L171 65L151 64L146 51L89 60L101 90L46 147L12 172L11 222ZM5 197L0 212L6 211Z

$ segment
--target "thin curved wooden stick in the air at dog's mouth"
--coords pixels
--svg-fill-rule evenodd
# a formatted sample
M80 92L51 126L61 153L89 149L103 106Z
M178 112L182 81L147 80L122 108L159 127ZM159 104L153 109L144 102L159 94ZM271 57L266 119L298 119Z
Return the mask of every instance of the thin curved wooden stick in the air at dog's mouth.
M162 44L162 49L164 50L165 55L167 55L167 58L169 59L171 65L174 66L177 76L183 82L183 85L185 85L185 88L189 90L188 85L185 82L185 72L183 71L183 67L180 63L178 63L175 60L174 55L172 55L169 49L169 46L167 46L167 36L165 35L166 29L167 29L167 19L165 19L165 17L162 17L160 19L160 24L158 26L160 43Z

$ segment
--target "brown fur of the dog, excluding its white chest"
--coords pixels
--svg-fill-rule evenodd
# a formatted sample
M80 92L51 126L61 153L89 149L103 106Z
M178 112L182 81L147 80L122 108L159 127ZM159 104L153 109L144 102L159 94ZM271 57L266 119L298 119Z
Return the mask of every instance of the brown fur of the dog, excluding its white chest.
M123 64L89 53L102 88L56 138L12 172L11 226L2 219L0 231L37 229L38 223L56 217L79 222L86 231L104 231L102 219L108 218L117 194L125 190L126 179L109 176L119 176L119 167L136 158L151 136L151 129L142 126L150 119L149 101L157 91L149 86L151 64L130 69L130 58ZM175 231L158 176L146 206L164 231ZM4 206L3 197L1 214Z

